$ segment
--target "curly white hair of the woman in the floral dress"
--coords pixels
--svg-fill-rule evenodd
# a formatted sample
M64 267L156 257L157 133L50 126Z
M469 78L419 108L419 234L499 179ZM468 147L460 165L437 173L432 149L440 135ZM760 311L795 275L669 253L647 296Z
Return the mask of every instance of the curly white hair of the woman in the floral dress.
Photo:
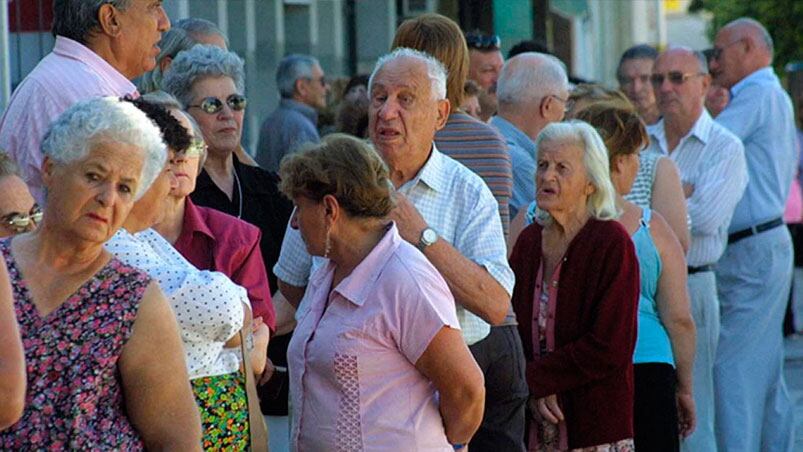
M66 165L86 158L94 145L115 141L142 149L143 164L135 199L164 169L167 146L159 128L134 104L116 97L96 97L73 104L50 125L42 153Z

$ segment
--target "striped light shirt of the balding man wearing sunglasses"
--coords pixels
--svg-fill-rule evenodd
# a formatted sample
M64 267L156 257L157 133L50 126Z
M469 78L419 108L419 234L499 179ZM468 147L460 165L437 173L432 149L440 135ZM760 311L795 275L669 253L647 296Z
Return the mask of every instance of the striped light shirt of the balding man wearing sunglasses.
M694 186L691 197L686 199L692 224L686 260L692 266L716 263L725 251L728 225L747 186L744 146L703 109L689 133L670 153L664 121L647 128L648 152L669 154L683 183Z

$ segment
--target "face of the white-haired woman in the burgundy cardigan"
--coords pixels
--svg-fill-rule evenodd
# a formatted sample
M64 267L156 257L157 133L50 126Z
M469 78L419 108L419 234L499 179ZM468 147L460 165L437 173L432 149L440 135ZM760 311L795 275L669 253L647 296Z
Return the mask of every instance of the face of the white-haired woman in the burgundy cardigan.
M583 149L576 144L541 142L535 170L538 207L553 212L585 209L594 192L583 164Z

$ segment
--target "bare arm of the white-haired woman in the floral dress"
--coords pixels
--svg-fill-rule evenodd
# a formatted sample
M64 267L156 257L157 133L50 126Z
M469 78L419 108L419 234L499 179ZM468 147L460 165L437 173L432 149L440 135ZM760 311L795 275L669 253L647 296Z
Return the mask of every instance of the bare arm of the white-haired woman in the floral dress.
M118 366L128 417L146 449L200 451L201 418L178 324L155 282L145 291Z

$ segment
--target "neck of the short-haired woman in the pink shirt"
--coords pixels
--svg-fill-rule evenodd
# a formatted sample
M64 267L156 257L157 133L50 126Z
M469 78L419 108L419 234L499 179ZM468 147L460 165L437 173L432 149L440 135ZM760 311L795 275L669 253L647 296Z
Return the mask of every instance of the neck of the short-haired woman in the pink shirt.
M384 219L350 220L338 238L332 238L330 259L337 264L335 277L342 280L360 264L385 235ZM338 278L339 277L339 278Z

